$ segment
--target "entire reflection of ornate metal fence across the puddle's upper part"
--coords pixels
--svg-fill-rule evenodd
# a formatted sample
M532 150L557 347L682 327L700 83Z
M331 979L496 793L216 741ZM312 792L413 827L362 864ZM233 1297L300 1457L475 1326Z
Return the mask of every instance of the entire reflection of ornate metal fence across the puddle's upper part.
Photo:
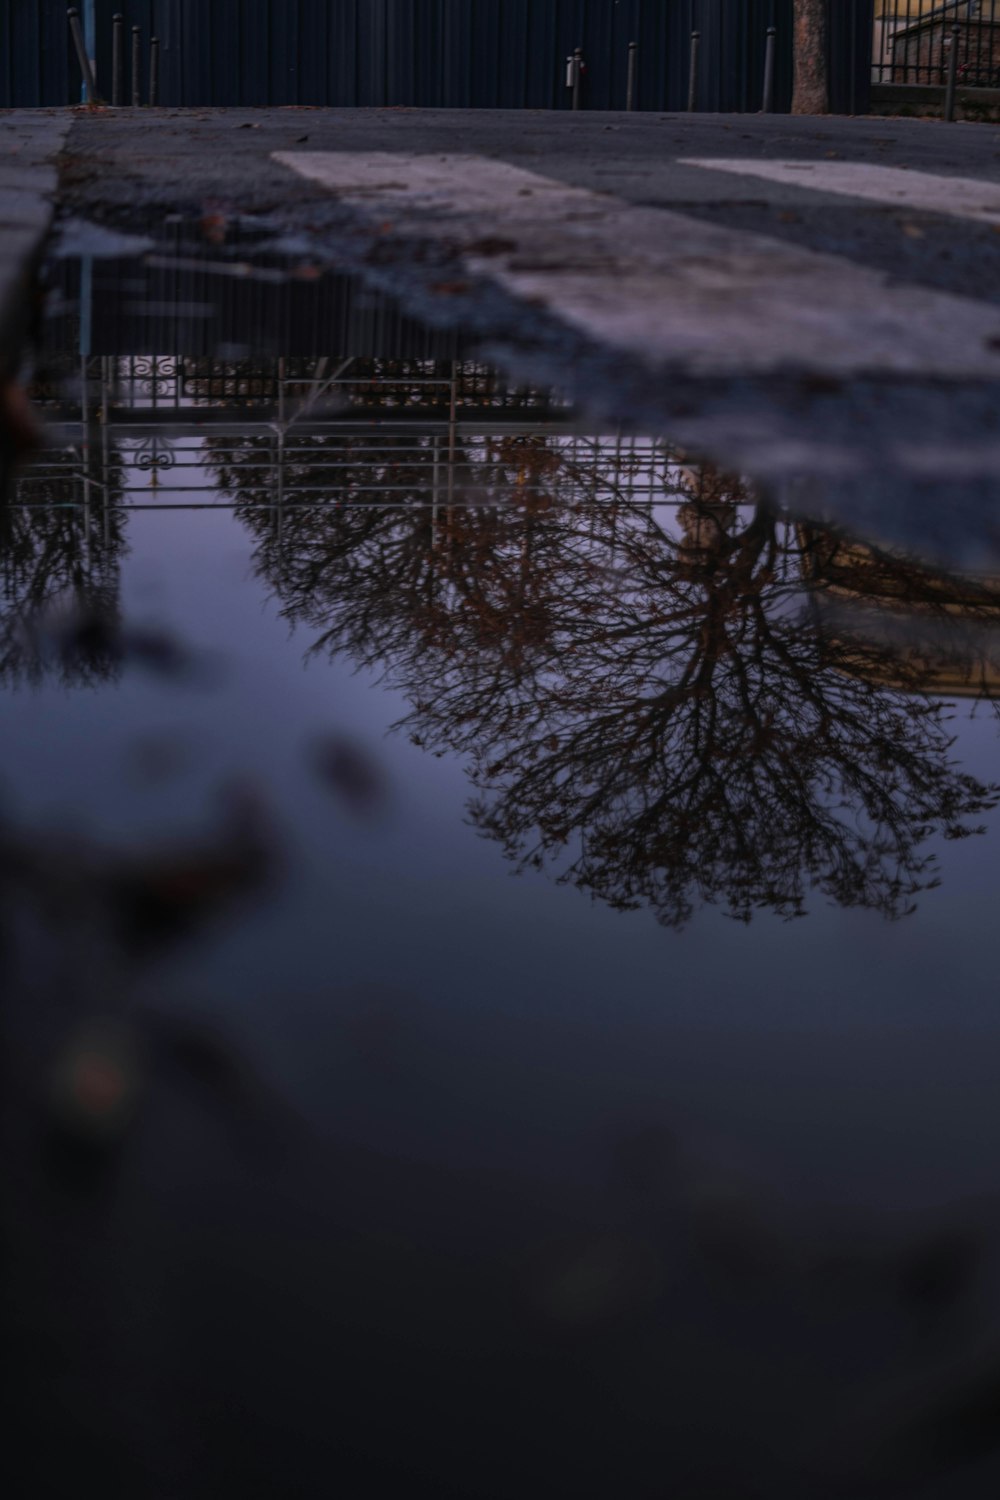
M583 434L483 363L97 356L82 399L37 393L51 447L13 502L79 510L684 504L697 470L654 438Z

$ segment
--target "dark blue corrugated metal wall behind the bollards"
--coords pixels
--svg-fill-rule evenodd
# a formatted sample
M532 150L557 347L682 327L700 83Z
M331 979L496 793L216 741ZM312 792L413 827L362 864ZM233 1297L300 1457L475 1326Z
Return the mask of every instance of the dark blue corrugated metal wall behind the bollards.
M768 26L777 104L792 99L793 0L96 0L97 84L111 18L160 39L165 105L567 108L565 58L586 62L585 105L622 108L628 44L637 102L687 102L702 33L699 108L759 110ZM873 0L831 0L832 105L867 108ZM864 45L859 45L859 39ZM0 105L79 99L64 0L0 0ZM142 87L145 98L145 80Z

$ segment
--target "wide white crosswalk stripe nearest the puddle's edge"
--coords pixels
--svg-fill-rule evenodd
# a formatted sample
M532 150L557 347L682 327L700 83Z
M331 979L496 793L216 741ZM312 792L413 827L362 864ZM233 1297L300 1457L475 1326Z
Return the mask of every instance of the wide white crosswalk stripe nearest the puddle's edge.
M399 234L457 243L471 273L678 374L1000 378L1000 308L837 255L489 158L280 152L276 160Z

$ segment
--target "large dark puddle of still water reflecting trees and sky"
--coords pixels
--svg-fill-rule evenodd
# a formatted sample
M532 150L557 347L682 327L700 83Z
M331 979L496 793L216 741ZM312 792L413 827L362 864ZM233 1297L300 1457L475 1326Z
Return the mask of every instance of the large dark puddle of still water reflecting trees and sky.
M0 537L31 1492L994 1492L1000 578L199 231Z

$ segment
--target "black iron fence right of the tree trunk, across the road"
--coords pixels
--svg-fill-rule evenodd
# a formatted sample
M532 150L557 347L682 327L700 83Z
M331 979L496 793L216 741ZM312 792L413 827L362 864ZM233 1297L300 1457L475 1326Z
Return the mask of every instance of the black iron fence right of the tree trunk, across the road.
M960 86L1000 87L1000 0L879 0L876 82L940 87L955 44Z

